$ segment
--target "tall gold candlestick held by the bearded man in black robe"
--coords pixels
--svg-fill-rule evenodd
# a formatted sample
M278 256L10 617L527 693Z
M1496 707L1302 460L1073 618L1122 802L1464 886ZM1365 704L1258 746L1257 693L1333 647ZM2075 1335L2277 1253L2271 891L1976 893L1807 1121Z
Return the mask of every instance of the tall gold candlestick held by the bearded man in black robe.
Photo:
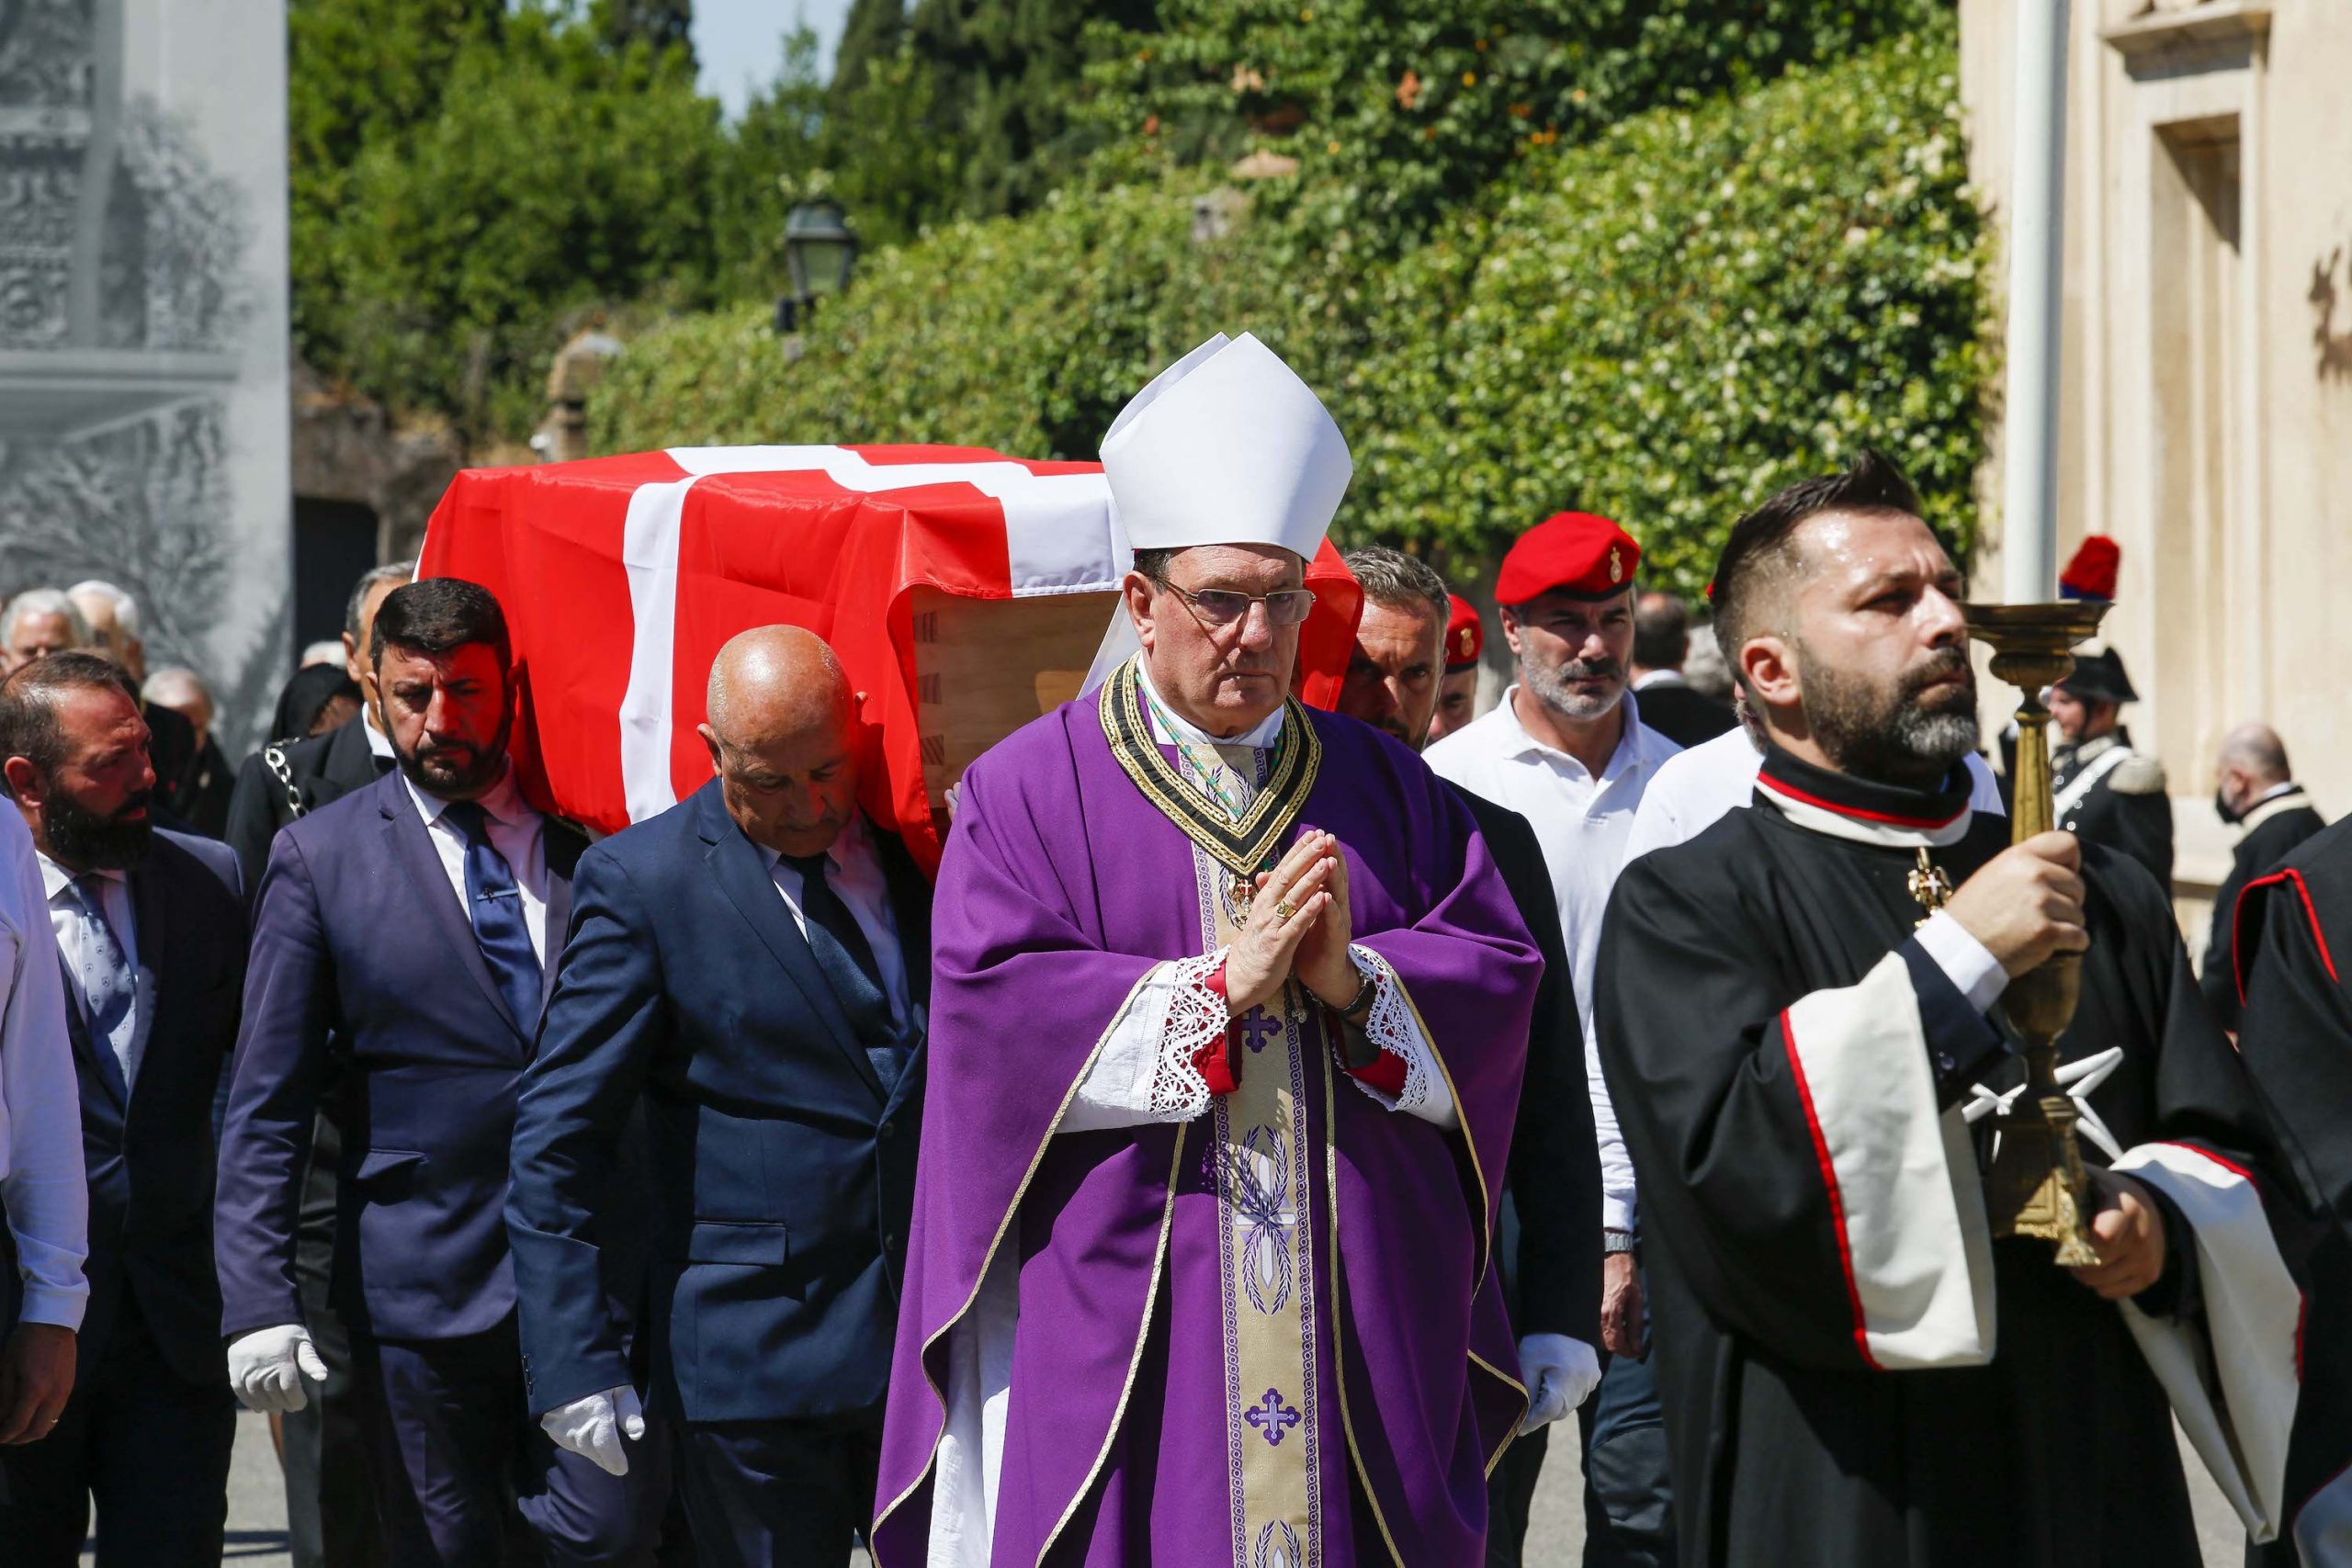
M1969 635L1992 646L1992 672L2025 693L2018 705L2018 773L2009 842L2049 832L2051 712L2042 689L2074 668L2072 646L2098 632L2105 604L1969 604ZM2058 1034L2074 1018L2082 994L2082 954L2051 954L2009 983L2002 1009L2025 1039L2025 1093L1994 1121L2002 1145L1985 1178L1994 1237L2042 1237L2058 1244L2058 1262L2098 1262L2091 1241L2091 1178L2082 1168L2074 1121L2082 1112L2058 1086Z

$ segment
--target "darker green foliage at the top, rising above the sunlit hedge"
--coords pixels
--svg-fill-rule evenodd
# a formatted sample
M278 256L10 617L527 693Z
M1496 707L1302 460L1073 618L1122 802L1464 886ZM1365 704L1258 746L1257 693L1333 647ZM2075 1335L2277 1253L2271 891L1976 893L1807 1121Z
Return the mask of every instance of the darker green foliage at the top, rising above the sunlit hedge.
M1832 61L1950 0L1162 0L1155 31L1101 28L1084 118L1110 167L1305 165L1317 221L1421 237L1515 155L1578 143Z

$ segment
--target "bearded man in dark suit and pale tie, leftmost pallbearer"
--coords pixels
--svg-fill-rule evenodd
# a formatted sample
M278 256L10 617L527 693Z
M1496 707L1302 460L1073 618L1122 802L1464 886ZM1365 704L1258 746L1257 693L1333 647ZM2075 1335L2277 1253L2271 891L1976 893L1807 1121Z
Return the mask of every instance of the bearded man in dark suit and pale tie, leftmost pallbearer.
M89 1178L73 1399L38 1443L0 1448L0 1561L80 1563L96 1500L101 1568L216 1566L235 1403L212 1276L212 1098L245 980L238 858L155 830L136 689L94 654L0 684L0 759L40 851L54 936L40 957L64 973Z

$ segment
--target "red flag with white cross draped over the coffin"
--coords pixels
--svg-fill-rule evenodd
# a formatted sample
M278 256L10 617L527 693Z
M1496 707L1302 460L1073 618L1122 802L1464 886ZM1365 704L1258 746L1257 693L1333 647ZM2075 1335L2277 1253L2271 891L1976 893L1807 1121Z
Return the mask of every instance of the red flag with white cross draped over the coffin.
M522 675L524 792L597 832L710 778L696 736L710 661L753 625L840 654L868 726L861 804L938 863L908 599L1110 592L1131 555L1096 463L981 447L677 447L473 468L426 529L423 576L499 595ZM1301 637L1303 701L1329 708L1362 592L1324 543Z

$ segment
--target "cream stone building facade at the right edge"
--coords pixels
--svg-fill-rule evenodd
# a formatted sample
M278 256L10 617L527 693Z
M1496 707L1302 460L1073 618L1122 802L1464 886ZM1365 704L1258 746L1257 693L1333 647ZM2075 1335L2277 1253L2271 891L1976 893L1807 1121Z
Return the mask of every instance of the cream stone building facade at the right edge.
M2006 212L2016 14L1962 0L1971 176ZM2227 872L2213 757L2267 719L2352 811L2352 5L2074 0L2058 559L2124 548L2107 639L2171 776L2183 914ZM2002 277L2002 273L1994 273ZM2002 592L1999 461L1976 590ZM1987 698L1990 701L1990 698ZM2192 926L2199 931L2201 926Z

